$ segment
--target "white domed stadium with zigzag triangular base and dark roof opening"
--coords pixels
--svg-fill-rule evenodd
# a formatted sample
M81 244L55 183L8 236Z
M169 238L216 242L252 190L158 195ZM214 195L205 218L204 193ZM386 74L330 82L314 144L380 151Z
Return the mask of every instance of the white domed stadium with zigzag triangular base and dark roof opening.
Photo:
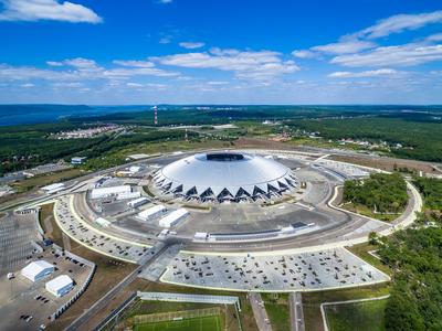
M154 181L166 194L200 202L269 200L296 188L296 178L287 167L230 151L178 160L160 169Z

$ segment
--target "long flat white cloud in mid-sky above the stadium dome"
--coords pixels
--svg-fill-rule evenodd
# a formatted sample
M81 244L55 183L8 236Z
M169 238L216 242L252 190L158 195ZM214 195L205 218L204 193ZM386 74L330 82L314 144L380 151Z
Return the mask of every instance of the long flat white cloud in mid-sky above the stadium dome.
M283 61L280 53L272 51L212 49L210 52L166 55L150 60L164 65L229 71L245 79L271 79L299 70L293 61Z

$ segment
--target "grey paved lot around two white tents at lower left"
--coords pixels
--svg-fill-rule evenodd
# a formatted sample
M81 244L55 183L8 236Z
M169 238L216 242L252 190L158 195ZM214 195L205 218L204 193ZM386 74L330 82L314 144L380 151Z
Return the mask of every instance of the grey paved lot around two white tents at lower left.
M15 278L0 278L0 330L38 330L46 324L49 317L67 302L82 284L86 281L91 267L66 256L56 255L49 248L35 255L28 263L44 259L55 266L55 271L36 282L21 276L21 269L12 270ZM57 298L45 289L45 284L60 276L67 275L74 280L74 288L64 297ZM27 321L25 319L29 319Z

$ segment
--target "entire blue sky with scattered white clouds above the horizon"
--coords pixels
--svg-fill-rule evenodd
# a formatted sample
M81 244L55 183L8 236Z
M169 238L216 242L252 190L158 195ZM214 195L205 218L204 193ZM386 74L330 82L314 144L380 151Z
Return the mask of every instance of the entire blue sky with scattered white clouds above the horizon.
M442 104L439 0L0 0L0 104Z

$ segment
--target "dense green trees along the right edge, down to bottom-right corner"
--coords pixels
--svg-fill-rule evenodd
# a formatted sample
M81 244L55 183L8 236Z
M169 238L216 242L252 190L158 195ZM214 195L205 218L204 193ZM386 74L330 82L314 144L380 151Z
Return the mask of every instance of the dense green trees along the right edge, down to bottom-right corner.
M442 330L442 180L420 178L424 197L420 227L381 238L381 259L393 270L386 328L391 331ZM427 226L429 217L432 226Z

